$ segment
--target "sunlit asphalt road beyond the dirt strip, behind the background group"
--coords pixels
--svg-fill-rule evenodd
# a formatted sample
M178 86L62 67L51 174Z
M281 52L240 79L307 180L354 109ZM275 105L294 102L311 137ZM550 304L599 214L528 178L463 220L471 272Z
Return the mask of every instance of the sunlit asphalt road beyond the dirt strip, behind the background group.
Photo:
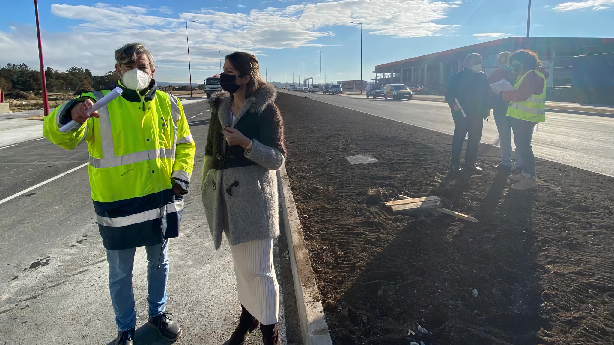
M287 92L430 130L454 133L454 122L446 103ZM481 141L498 144L499 134L492 115L483 128ZM534 133L532 145L537 157L614 176L614 118L546 112L546 122Z

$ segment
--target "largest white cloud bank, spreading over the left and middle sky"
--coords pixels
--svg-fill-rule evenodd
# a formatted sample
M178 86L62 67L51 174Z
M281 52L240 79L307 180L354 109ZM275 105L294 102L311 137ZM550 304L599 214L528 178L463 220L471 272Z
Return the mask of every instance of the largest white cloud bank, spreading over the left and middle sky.
M158 80L171 82L187 79L187 20L198 20L188 25L194 76L198 71L209 74L219 69L218 50L258 53L267 48L321 45L317 39L335 36L335 26L356 26L352 21L362 22L369 34L438 36L453 26L433 21L446 18L446 10L456 6L432 0L341 0L250 10L249 14L201 9L167 18L158 14L173 14L172 7L53 4L51 12L56 17L82 22L71 31L44 31L44 56L46 64L55 69L84 66L103 73L112 69L115 48L142 42L157 58ZM0 63L23 61L36 66L37 46L32 37L36 33L31 26L0 31L0 51L11 52L10 61L3 56Z

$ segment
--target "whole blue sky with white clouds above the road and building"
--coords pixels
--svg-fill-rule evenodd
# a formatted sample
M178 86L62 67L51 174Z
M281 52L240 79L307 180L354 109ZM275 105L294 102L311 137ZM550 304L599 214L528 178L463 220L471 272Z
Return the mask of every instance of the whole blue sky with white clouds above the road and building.
M0 64L38 69L32 1L5 1ZM113 50L139 41L157 58L155 78L187 82L185 21L189 23L192 80L219 71L222 56L257 55L261 74L284 82L306 77L373 78L376 64L526 34L527 0L325 1L39 1L45 66L95 74L112 69ZM614 37L614 0L533 0L531 36ZM322 64L320 53L322 51ZM303 73L303 62L305 73ZM292 71L293 69L293 71ZM330 78L329 78L330 76ZM300 78L300 79L299 79Z

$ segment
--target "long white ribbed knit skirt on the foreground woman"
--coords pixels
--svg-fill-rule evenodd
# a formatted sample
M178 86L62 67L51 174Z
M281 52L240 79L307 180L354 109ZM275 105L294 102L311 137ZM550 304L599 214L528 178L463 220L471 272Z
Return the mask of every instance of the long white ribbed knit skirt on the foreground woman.
M276 324L279 285L273 266L273 239L230 244L230 251L235 259L239 302L260 324Z

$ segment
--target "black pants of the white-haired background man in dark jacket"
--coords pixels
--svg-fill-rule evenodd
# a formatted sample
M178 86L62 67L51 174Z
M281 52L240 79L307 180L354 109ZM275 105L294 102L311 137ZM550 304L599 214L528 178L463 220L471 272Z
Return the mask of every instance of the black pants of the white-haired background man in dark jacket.
M482 139L482 125L484 119L468 115L467 117L454 117L454 138L452 139L452 165L459 165L461 161L462 144L465 135L469 137L465 151L465 166L470 166L478 159L478 144Z

